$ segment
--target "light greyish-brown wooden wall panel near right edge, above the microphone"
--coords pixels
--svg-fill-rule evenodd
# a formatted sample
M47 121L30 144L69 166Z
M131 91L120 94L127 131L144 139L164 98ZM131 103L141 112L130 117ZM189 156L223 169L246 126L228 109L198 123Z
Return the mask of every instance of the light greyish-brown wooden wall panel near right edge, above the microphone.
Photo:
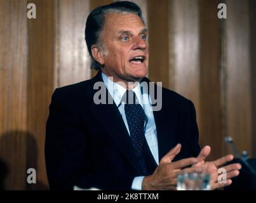
M252 154L249 1L227 1L227 134Z

